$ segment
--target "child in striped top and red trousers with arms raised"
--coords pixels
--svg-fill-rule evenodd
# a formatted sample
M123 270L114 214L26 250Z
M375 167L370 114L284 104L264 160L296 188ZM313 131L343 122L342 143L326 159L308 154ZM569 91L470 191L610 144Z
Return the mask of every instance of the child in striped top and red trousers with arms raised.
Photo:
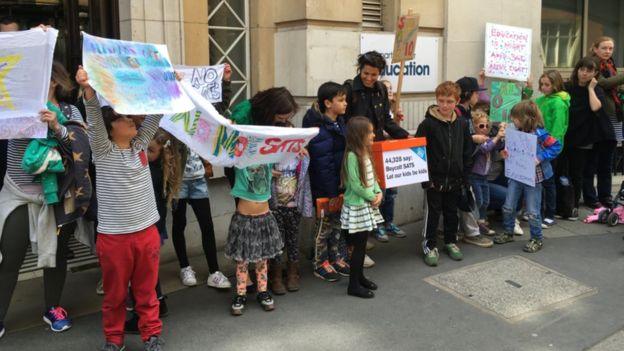
M160 237L158 211L147 159L147 147L161 115L125 116L100 108L87 72L79 67L76 81L84 89L89 141L97 179L97 253L104 281L102 350L124 349L124 302L132 283L135 311L146 350L161 350L162 322L154 287L158 280Z

